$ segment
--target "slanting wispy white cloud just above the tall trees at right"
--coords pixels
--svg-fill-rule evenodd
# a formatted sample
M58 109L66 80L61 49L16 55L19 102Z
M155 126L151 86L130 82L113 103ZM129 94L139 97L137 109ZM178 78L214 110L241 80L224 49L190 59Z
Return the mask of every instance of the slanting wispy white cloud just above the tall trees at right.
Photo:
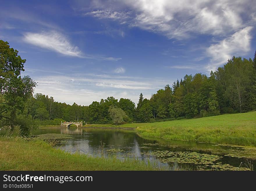
M247 26L217 44L211 45L206 50L208 56L211 57L211 63L207 65L206 69L214 71L220 65L227 63L227 60L232 58L232 56L243 56L250 51L250 41L252 38L250 31L252 28L252 26Z

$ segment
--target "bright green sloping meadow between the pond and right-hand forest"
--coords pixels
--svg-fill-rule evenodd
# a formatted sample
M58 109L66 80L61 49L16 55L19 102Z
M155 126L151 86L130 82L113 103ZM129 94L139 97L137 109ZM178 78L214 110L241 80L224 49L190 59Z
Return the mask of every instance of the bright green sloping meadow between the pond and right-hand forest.
M124 124L137 126L143 137L256 146L256 112L226 114L168 122Z

